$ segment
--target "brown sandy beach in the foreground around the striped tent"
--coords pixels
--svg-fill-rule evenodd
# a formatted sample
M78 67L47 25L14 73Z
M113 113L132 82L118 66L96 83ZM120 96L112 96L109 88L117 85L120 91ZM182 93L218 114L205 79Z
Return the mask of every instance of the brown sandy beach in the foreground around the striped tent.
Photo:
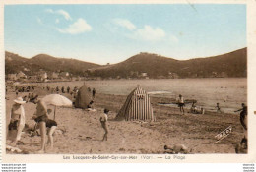
M28 93L19 93L19 96ZM6 125L10 120L10 110L15 92L8 91L6 95ZM235 153L234 147L243 137L239 114L213 113L181 115L175 107L159 105L160 98L153 97L152 104L157 121L151 123L138 121L116 121L116 114L124 103L126 96L96 94L96 112L57 107L56 121L58 131L54 135L53 150L46 149L47 154L104 154L104 153L135 153L161 154L164 145L184 144L190 153ZM24 105L26 124L34 125L32 114L35 104ZM54 107L49 105L54 111ZM103 108L109 112L108 141L102 142L104 134L99 122ZM53 118L53 113L50 115ZM215 136L227 127L232 132L220 143L216 143ZM40 136L30 137L24 133L21 140L24 144L18 145L30 154L40 149ZM47 148L47 147L46 147ZM7 151L7 153L12 153Z

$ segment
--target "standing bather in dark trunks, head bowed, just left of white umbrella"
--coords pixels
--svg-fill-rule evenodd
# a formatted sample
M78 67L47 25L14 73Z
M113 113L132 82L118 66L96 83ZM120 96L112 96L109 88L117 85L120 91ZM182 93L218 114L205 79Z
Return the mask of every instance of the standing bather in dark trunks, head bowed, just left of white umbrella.
M39 124L40 135L41 135L41 149L39 153L44 153L45 151L45 139L46 139L46 121L48 120L47 106L42 100L35 100L34 103L37 104L36 112L33 115L33 119Z

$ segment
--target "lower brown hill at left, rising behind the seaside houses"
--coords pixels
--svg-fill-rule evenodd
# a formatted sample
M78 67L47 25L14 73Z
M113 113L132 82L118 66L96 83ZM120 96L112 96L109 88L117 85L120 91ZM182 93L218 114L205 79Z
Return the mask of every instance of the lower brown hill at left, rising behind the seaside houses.
M56 58L46 54L39 54L31 59L27 59L10 52L5 53L5 72L6 74L24 71L25 74L33 75L40 69L48 72L69 72L74 75L83 75L90 68L100 65L88 63L75 59Z

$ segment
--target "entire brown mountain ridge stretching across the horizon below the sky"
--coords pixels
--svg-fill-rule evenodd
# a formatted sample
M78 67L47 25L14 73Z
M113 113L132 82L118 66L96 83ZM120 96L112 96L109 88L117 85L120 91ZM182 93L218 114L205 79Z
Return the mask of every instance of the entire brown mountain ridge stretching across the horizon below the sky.
M70 72L75 76L100 78L205 78L247 77L247 48L222 55L176 60L141 52L112 65L98 65L76 59L38 54L30 59L6 51L6 74L25 71L34 75L39 70L46 72ZM57 64L57 65L56 65ZM142 73L143 76L142 76Z

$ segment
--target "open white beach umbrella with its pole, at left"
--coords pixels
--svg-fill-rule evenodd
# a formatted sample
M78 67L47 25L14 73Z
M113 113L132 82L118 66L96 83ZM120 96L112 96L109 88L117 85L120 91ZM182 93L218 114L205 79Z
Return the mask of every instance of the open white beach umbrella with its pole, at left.
M54 105L54 120L55 120L55 112L56 112L56 106L64 106L64 107L71 107L72 106L72 101L68 98L66 98L63 95L59 94L50 94L44 96L42 99L46 104Z

